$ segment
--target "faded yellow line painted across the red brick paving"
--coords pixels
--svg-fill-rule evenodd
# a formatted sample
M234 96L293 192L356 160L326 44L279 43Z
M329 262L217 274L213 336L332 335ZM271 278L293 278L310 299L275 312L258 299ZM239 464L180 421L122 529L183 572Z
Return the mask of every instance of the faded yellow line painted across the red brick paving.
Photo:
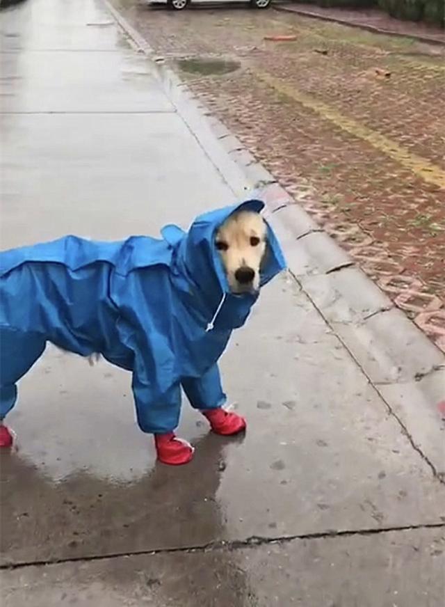
M316 100L316 98L311 95L301 93L297 88L285 84L282 80L274 78L266 72L260 72L252 68L251 71L257 79L275 89L277 93L285 95L286 97L289 97L289 99L300 103L303 107L318 113L318 116L321 116L321 118L324 118L325 120L329 120L337 127L343 129L343 131L357 137L357 139L366 141L366 143L372 145L376 150L383 152L398 162L398 164L410 169L412 173L418 175L426 182L445 189L445 171L439 166L432 164L432 162L426 158L412 154L406 148L398 145L395 141L385 137L385 135L365 127L352 118L343 116L342 113L333 107Z

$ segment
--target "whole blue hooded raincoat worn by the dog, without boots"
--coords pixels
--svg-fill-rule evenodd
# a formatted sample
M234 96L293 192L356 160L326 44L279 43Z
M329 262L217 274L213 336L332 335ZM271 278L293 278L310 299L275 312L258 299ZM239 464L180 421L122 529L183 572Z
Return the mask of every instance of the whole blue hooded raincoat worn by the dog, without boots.
M67 236L0 253L0 418L47 341L131 371L143 432L177 427L181 387L197 409L224 404L217 361L257 294L230 293L214 234L232 212L263 207L248 200L209 212L188 232L166 226L162 239ZM261 286L284 267L268 227Z

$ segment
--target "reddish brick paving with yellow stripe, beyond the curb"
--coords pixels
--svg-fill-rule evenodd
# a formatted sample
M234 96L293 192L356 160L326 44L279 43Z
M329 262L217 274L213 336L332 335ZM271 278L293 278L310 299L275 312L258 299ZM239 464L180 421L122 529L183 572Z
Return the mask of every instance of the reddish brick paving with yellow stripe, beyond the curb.
M240 63L182 76L445 351L444 49L274 10L126 3L166 58Z

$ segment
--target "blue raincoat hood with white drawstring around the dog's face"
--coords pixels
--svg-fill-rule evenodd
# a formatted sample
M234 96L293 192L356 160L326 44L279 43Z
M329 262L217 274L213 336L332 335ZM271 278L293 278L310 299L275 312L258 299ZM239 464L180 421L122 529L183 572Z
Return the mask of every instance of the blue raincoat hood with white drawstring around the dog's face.
M261 200L247 200L198 216L188 232L174 225L161 230L163 238L173 249L173 281L188 303L207 319L207 331L242 326L259 295L258 292L233 294L230 291L215 245L216 231L234 212L259 213L263 209ZM286 267L280 244L267 222L266 227L267 248L260 269L260 287Z

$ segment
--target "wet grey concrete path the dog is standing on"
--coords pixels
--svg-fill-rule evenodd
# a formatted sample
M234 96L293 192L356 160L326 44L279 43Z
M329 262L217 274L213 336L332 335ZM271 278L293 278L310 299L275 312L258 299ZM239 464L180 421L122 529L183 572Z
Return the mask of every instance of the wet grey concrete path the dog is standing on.
M1 16L3 249L186 227L248 186L102 3ZM321 308L333 277L316 281ZM426 457L343 345L360 331L275 280L223 358L248 434L210 435L184 403L197 452L182 468L154 462L129 375L49 350L1 454L2 606L442 606L441 447L432 436Z

